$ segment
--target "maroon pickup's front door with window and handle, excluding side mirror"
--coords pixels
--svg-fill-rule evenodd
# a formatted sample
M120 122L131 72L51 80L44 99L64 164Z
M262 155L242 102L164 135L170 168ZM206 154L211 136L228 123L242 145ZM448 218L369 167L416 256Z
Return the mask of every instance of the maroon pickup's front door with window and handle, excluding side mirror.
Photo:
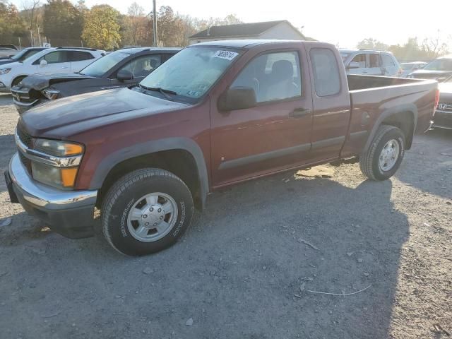
M218 100L210 105L214 186L295 167L307 161L311 148L311 85L303 45L251 52L216 95L252 88L256 107L220 112Z

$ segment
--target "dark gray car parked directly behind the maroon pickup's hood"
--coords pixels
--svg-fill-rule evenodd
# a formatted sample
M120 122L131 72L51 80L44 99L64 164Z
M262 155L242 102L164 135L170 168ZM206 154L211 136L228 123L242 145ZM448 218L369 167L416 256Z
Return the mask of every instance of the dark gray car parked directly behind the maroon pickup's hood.
M180 48L119 49L97 59L78 73L28 76L11 88L19 114L42 102L98 90L137 85Z

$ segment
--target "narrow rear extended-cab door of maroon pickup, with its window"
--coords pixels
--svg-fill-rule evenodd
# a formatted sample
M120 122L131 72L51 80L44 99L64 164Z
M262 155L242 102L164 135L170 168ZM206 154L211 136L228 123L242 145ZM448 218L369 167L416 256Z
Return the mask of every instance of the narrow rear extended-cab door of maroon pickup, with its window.
M311 162L339 156L350 124L350 93L342 59L330 44L305 43L308 49L314 121Z

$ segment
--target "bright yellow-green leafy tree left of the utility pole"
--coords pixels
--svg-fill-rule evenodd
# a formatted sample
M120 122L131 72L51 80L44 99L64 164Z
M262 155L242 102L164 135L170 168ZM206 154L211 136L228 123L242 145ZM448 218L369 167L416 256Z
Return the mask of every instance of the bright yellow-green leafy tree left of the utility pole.
M119 47L119 11L109 5L93 6L85 17L82 38L89 47L115 49Z

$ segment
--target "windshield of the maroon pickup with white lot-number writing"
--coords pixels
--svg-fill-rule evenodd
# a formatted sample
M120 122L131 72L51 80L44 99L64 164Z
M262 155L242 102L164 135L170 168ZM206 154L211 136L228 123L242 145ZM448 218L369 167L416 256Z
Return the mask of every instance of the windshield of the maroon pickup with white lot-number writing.
M150 73L140 85L171 90L184 101L196 102L238 55L224 47L189 47Z

